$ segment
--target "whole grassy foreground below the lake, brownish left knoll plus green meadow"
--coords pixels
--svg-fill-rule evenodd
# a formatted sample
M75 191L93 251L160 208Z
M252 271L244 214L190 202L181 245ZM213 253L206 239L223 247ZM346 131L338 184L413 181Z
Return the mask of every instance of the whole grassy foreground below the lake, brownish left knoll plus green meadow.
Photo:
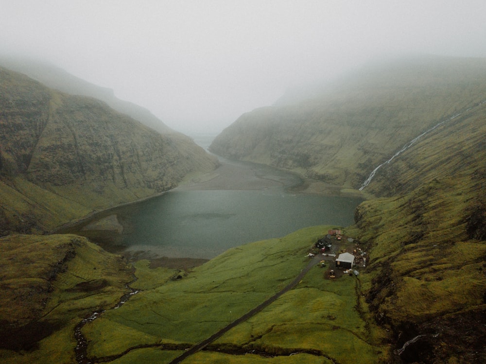
M131 286L142 291L117 309L132 279L120 258L75 235L2 238L2 363L74 362L75 326L102 310L81 329L93 363L168 363L294 280L329 228L232 248L187 272L139 261ZM328 268L313 266L295 289L185 362L385 363L390 346L367 313L360 278L328 279Z

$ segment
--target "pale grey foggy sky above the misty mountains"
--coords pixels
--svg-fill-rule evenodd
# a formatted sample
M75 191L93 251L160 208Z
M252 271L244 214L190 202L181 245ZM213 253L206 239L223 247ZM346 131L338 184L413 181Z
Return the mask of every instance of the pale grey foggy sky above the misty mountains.
M485 0L0 0L0 49L47 60L183 132L407 53L486 57Z

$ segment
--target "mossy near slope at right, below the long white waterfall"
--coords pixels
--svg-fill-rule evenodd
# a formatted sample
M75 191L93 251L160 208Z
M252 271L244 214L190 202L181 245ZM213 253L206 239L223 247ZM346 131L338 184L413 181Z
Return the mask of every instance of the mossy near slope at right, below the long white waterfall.
M486 361L485 136L482 104L383 167L366 189L392 197L356 211L366 298L406 363Z

